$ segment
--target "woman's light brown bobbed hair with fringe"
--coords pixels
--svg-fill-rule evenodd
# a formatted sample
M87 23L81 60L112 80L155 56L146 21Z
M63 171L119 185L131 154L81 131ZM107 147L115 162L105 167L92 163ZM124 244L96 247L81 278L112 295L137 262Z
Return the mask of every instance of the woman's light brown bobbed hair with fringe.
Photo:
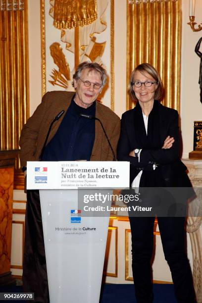
M160 79L160 76L157 72L157 70L149 63L142 63L140 65L138 65L131 73L130 76L130 83L129 83L129 88L128 88L128 94L131 97L131 99L138 101L136 96L135 96L135 92L133 90L133 77L136 71L141 72L142 74L144 73L148 73L150 76L152 76L152 78L157 81L157 88L155 90L155 94L154 94L154 99L160 101L163 97L163 85L162 85L162 81Z

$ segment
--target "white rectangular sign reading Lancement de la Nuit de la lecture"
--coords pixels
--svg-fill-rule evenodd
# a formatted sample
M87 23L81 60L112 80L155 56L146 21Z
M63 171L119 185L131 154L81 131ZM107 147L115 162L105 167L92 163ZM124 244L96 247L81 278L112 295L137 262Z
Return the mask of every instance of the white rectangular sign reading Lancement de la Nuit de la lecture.
M121 188L129 185L129 162L27 162L27 189Z

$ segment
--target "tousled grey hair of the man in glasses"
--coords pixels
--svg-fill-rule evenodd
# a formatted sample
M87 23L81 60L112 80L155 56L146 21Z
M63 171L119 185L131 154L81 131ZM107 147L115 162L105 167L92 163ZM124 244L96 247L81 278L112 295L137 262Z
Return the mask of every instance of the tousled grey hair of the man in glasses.
M73 79L78 80L80 78L82 70L84 69L89 69L89 71L97 71L101 75L101 86L104 86L107 77L106 70L96 62L85 61L80 63L73 75ZM74 87L74 81L72 81L72 86Z

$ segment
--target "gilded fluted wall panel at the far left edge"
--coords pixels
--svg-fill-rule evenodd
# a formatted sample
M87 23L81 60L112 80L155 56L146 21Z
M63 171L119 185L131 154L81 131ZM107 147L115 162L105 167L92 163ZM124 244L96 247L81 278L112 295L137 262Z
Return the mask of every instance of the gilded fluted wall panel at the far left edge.
M0 150L19 149L29 117L27 31L27 0L0 0Z

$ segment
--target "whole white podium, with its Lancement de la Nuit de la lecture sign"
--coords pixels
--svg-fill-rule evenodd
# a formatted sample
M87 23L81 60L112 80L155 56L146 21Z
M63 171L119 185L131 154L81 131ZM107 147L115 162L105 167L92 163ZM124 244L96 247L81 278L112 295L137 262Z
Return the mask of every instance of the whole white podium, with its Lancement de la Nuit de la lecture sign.
M103 195L128 187L129 162L28 162L27 184L40 189L50 303L99 303L110 212L82 217L78 187Z

